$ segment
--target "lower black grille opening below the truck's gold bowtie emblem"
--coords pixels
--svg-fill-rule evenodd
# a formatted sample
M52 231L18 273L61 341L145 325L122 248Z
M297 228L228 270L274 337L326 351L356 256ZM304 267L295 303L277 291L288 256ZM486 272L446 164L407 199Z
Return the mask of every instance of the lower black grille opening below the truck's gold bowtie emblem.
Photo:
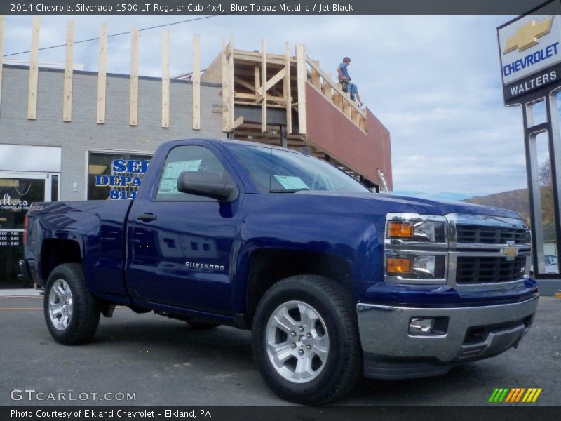
M525 272L526 257L513 260L503 257L458 256L456 283L495 283L515 281Z

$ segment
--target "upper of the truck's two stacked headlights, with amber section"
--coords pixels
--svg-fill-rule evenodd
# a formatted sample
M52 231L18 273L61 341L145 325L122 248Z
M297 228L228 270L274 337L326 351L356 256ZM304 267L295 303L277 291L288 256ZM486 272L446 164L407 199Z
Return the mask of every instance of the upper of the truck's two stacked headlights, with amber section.
M414 241L421 243L445 243L445 221L442 217L407 214L387 221L386 239L391 243ZM392 241L394 240L394 241Z

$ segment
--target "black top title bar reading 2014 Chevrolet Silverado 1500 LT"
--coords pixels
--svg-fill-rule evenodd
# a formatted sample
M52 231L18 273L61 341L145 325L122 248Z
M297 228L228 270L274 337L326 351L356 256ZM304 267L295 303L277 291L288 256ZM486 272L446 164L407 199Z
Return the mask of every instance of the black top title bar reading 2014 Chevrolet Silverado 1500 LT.
M0 0L1 15L521 15L543 0Z

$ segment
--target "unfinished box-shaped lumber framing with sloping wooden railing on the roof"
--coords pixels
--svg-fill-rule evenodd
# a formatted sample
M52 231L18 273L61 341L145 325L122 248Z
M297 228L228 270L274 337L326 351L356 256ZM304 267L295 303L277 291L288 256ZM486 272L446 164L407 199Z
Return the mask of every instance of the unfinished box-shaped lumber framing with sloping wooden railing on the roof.
M306 55L304 44L297 44L295 55L291 56L288 43L285 44L285 54L278 55L266 51L264 39L260 51L237 50L232 38L228 44L223 40L222 55L207 67L201 80L222 83L222 131L235 138L249 136L250 139L269 139L269 142L285 145L286 137L292 136L304 145L308 85L322 93L361 131L367 131L365 110L351 101L330 73L320 69L319 62ZM258 114L253 113L252 121L244 122L243 117L235 120L234 116L240 114L236 111L238 107L258 107L259 119ZM278 123L278 113L271 117L275 109L283 109L285 124ZM297 116L296 125L294 115ZM271 124L276 128L271 129ZM271 130L275 133L269 133ZM284 138L280 131L283 131Z

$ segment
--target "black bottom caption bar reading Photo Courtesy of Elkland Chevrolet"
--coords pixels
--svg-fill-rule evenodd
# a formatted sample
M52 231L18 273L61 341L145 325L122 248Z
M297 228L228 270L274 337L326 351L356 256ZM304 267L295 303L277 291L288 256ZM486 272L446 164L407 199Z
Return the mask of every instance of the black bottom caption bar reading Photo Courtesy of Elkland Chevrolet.
M529 403L470 407L4 407L2 421L372 421L372 420L558 420L559 407L531 407Z

